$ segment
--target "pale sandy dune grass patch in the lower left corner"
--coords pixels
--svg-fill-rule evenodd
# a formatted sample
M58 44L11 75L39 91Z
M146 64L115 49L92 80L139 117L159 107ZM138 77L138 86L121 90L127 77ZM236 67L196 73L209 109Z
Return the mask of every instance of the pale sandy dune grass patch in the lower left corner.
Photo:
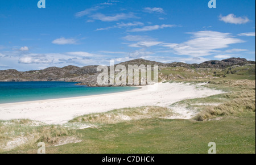
M0 121L0 152L35 148L37 142L45 142L47 146L52 146L69 136L80 137L74 130L68 130L60 125L45 125L26 119Z

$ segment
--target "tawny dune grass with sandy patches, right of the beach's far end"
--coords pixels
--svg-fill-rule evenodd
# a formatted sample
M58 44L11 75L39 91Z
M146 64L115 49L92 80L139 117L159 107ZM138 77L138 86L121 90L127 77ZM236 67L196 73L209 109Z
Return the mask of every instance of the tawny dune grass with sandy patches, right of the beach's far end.
M205 81L190 81L189 83L201 82ZM183 100L172 106L195 109L198 114L193 119L197 121L247 112L255 113L255 81L222 79L208 81L205 87L226 93L207 98Z

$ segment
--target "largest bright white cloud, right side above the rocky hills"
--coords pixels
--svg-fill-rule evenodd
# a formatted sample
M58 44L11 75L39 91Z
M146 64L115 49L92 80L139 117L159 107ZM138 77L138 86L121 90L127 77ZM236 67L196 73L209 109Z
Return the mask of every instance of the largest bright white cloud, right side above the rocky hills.
M228 48L230 44L243 43L243 40L236 39L230 33L221 33L214 31L189 32L192 39L184 43L163 44L174 50L175 54L188 55L193 57L209 56L217 49Z

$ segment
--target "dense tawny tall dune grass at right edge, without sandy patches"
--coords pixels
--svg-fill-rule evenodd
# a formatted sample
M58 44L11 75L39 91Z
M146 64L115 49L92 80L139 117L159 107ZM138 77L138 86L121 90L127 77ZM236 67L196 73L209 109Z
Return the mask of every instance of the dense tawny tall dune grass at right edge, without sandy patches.
M206 106L196 116L196 120L206 120L212 117L236 115L238 113L255 113L255 81L229 80L210 82L211 87L230 89L228 94L219 95L218 105ZM221 86L221 87L220 87Z

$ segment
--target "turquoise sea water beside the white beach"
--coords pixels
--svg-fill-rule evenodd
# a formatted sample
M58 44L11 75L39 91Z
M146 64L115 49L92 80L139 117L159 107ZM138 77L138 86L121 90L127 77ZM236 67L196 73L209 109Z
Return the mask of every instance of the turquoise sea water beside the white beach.
M0 104L71 98L136 90L138 87L88 87L77 82L0 82Z

